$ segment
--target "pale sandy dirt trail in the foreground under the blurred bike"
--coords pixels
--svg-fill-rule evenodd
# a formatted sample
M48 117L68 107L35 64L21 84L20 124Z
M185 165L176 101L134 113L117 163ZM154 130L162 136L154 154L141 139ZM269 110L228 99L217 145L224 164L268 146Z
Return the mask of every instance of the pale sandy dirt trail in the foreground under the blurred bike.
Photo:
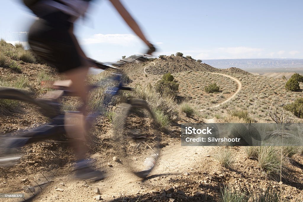
M105 170L107 178L98 182L81 181L73 178L71 172L65 171L60 177L54 179L35 201L94 201L98 195L93 192L99 188L102 201L112 201L115 197L136 196L173 186L169 180L180 179L180 175L187 172L189 175L201 165L205 156L211 153L213 147L184 147L180 142L161 149L157 166L146 180L136 177L125 169L125 166L111 161L113 167L108 167L108 160L104 154L96 153L91 156L96 160L96 167ZM181 177L182 178L182 177ZM178 181L179 182L179 181ZM176 184L178 184L176 182ZM60 185L64 183L65 186ZM55 191L56 187L62 188L63 192ZM39 199L40 198L40 199Z

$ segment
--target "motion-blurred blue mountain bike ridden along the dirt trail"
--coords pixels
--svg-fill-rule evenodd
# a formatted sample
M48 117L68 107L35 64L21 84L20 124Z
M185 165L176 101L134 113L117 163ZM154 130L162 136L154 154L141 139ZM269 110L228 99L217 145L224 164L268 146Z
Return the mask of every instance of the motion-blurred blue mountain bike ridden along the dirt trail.
M102 63L90 59L93 66L99 69L110 69L110 78L101 81L99 84L88 85L89 91L108 86L103 92L104 99L101 102L102 110L94 111L87 115L87 128L91 128L96 118L106 115L106 109L111 107L122 91L132 91L126 87L122 79L122 71L118 68L125 62L141 62L146 59L142 54L135 59L118 61L117 63ZM39 112L48 118L48 123L42 124L33 129L15 131L0 136L0 170L22 162L22 147L35 142L47 141L56 143L71 143L72 140L64 138L64 141L56 141L65 131L65 116L67 113L79 113L79 111L62 111L62 103L58 100L64 96L77 96L65 86L56 86L55 89L61 92L57 99L33 98L30 91L16 88L0 88L0 99L23 101L36 106ZM80 106L79 109L83 107ZM110 144L116 148L118 158L130 172L138 177L145 178L155 167L160 145L160 133L157 130L155 116L146 101L135 98L127 98L123 103L115 107L116 115L112 121L112 136ZM20 154L19 154L20 153ZM134 157L135 155L135 157ZM43 161L43 160L42 160ZM43 162L42 162L43 163ZM24 201L31 201L44 186L52 183L52 176L42 174L34 182L27 183L28 186L16 188L13 193L23 193ZM18 187L18 186L17 186ZM3 190L2 190L3 191ZM5 190L6 193L7 190ZM24 193L25 192L25 193ZM1 193L0 193L1 194Z

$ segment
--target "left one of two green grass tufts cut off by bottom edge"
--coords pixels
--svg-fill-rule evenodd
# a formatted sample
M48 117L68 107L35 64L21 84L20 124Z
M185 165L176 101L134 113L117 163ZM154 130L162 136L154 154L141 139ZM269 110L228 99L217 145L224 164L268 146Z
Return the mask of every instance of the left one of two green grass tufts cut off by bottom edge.
M234 188L224 187L221 189L222 202L248 202L249 197L245 193L236 191Z

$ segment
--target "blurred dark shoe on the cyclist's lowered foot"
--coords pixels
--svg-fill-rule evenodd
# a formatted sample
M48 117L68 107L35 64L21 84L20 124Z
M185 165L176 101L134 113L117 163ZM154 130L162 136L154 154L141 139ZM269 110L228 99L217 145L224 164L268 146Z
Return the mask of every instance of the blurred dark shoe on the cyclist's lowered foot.
M75 177L82 180L102 180L105 178L101 171L94 170L89 166L89 161L79 161L75 169Z

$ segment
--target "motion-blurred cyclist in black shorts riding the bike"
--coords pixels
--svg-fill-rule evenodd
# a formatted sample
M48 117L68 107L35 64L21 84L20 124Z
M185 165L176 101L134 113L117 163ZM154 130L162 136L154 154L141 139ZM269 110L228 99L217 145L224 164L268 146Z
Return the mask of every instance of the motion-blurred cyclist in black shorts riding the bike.
M135 34L149 47L148 54L155 51L154 46L145 38L138 24L119 0L109 0ZM70 79L70 89L75 91L82 102L87 102L85 77L89 62L73 34L74 22L88 9L90 0L23 0L35 15L39 17L28 33L28 43L36 55L54 65L60 73ZM78 157L76 177L81 179L102 179L100 171L93 170L85 160L85 109L82 113L70 115L76 119L76 126L66 131L77 141L73 145ZM65 121L69 125L68 118Z

